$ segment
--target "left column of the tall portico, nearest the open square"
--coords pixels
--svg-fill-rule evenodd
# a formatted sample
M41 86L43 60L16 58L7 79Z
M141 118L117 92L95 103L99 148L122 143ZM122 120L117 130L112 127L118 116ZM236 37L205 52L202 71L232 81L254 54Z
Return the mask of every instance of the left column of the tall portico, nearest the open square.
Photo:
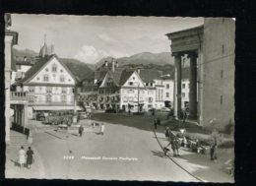
M174 115L178 119L181 112L181 54L175 53L174 56L174 93L173 108Z

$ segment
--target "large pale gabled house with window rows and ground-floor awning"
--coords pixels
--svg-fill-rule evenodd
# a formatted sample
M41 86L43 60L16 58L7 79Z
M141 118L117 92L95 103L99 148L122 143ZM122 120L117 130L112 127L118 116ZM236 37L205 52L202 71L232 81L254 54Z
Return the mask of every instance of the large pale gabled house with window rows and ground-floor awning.
M41 56L15 86L30 94L29 118L35 111L74 109L76 78L57 55Z

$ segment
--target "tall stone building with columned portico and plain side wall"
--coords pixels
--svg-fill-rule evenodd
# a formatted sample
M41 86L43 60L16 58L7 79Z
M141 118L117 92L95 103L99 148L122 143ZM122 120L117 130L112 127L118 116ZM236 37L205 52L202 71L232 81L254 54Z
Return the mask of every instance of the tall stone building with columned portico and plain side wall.
M166 35L174 56L174 115L181 110L182 56L189 58L189 117L220 128L234 123L234 31L231 18L205 19L204 25Z

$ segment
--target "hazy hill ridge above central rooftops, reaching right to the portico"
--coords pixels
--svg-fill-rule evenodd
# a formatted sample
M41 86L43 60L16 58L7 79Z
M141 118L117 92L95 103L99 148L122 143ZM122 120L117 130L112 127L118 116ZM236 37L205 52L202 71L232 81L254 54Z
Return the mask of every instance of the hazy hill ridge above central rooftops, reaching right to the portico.
M102 58L96 63L96 67L101 66L105 61L110 62L112 57ZM151 53L151 52L142 52L134 54L130 57L121 57L115 59L120 66L134 64L134 65L166 65L174 64L174 58L170 55L170 52L161 52L161 53Z

